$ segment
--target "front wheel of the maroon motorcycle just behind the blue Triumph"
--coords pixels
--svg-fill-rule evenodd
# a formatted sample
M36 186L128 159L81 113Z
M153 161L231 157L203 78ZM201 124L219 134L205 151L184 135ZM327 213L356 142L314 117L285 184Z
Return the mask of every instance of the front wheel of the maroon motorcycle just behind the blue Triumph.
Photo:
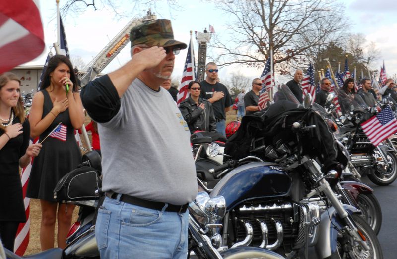
M361 217L367 221L372 230L378 235L382 225L382 210L378 199L372 193L361 193L357 197L358 209Z

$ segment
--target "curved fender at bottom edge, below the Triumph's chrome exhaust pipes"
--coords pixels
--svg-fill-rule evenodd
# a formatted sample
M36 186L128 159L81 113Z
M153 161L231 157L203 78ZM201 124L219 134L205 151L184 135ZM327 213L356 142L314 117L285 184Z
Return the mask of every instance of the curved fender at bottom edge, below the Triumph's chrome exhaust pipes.
M283 256L258 247L236 247L220 253L222 258L266 258L266 259L285 259Z

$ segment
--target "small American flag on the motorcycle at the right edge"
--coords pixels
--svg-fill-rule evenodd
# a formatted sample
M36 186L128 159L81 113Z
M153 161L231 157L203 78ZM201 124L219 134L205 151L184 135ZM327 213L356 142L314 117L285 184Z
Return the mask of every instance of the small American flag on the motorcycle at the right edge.
M361 128L372 144L378 146L397 131L397 120L392 109L386 106L377 115L362 123Z

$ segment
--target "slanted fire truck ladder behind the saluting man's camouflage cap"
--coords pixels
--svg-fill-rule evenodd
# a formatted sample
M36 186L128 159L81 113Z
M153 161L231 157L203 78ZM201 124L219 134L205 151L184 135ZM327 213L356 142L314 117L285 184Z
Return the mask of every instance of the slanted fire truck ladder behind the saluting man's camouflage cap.
M81 86L85 86L93 80L101 71L119 54L119 52L130 42L130 31L136 25L143 22L155 20L156 15L150 9L143 18L133 18L106 46L96 55L96 57L83 69L77 72L77 77L81 80Z

